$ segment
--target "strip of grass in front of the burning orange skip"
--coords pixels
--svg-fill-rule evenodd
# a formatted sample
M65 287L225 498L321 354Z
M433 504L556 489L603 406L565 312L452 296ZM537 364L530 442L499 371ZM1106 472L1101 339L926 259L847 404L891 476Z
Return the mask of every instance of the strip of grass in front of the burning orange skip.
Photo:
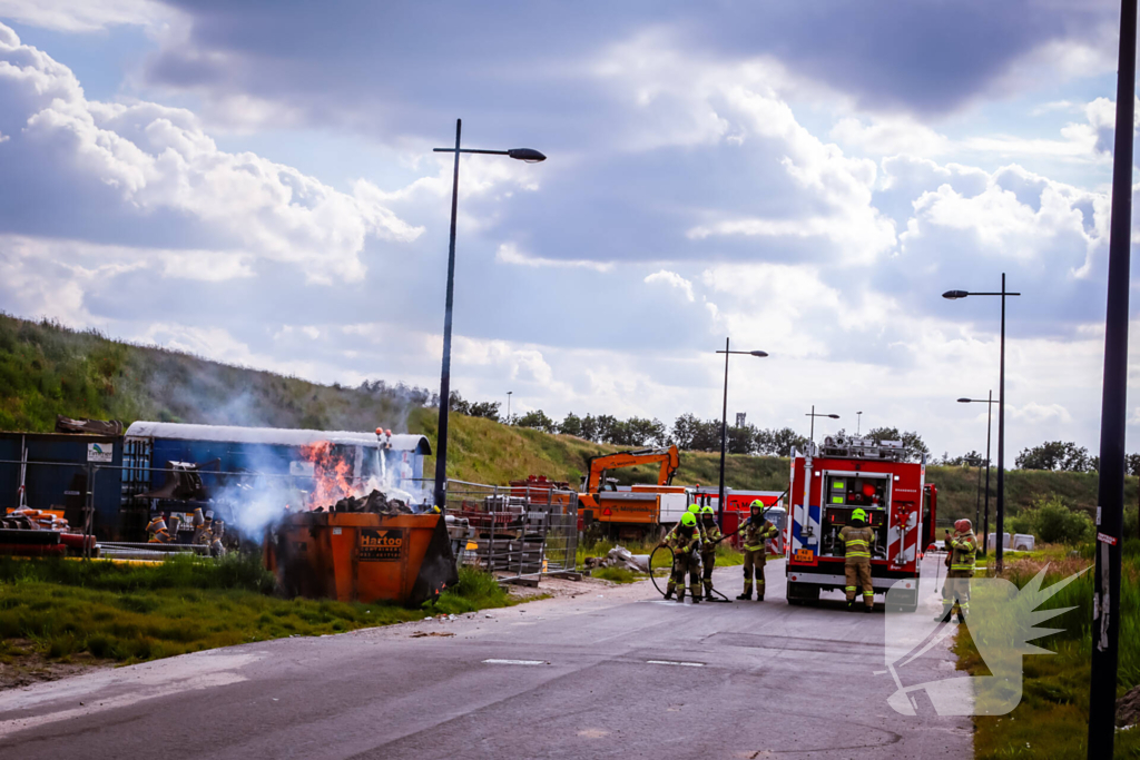
M32 652L66 662L85 652L132 663L516 603L494 578L470 567L434 606L422 608L283 599L272 589L274 577L251 556L177 557L149 566L0 558L0 662L18 665ZM21 640L28 644L13 644Z

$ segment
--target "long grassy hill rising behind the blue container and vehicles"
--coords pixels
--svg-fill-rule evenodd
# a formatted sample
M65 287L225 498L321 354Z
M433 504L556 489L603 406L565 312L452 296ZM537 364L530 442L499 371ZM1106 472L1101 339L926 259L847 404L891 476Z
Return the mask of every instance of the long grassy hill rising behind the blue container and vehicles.
M434 444L438 412L421 406L402 386L319 385L0 314L0 430L50 431L57 414L124 423L160 419L317 430L383 425L423 433ZM577 484L589 457L616 450L569 435L453 415L448 475L506 483L534 474ZM429 461L425 472L430 475L433 467ZM718 467L715 453L683 452L676 480L715 484ZM649 467L612 473L622 483L651 482L656 474ZM785 459L727 459L725 481L733 488L783 490L787 479ZM976 469L929 467L927 481L938 485L942 517L974 516ZM995 488L993 473L991 489ZM1090 512L1097 504L1096 473L1010 471L1005 489L1010 514L1051 495ZM1135 505L1137 497L1137 479L1130 477L1125 502ZM1134 525L1135 507L1130 509Z

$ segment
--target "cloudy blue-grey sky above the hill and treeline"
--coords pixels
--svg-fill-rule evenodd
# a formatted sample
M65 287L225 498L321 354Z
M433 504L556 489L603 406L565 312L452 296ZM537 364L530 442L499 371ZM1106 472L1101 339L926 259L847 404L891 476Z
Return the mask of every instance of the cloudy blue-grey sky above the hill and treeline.
M0 309L438 387L462 117L549 157L464 160L465 397L714 417L730 336L730 414L960 453L1007 272L1010 457L1096 450L1117 9L0 0Z

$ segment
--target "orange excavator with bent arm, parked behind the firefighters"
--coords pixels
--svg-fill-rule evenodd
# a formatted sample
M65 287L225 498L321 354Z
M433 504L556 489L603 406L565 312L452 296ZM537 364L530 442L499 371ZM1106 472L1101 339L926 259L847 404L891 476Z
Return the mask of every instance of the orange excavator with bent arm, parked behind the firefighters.
M605 473L620 467L660 465L657 485L634 485L617 490L608 483ZM583 525L600 529L614 537L645 536L661 524L676 522L689 506L690 495L682 485L671 485L681 466L677 447L618 451L592 457L589 472L583 477L578 509ZM600 523L594 525L594 523Z

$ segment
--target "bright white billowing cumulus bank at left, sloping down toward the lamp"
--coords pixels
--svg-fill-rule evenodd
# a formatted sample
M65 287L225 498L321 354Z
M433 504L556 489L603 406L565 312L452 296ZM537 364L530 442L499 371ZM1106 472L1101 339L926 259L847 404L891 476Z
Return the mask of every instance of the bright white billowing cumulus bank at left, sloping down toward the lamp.
M400 243L423 231L365 185L348 195L219 150L187 111L88 100L70 68L3 25L0 104L7 231L188 244L295 265L323 283L363 277L366 238Z

